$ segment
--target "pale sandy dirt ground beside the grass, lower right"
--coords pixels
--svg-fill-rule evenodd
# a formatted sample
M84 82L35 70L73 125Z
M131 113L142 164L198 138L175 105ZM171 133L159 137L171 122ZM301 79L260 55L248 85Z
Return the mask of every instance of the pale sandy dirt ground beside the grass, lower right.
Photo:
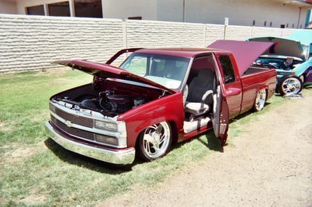
M312 206L312 90L244 125L224 152L98 206Z

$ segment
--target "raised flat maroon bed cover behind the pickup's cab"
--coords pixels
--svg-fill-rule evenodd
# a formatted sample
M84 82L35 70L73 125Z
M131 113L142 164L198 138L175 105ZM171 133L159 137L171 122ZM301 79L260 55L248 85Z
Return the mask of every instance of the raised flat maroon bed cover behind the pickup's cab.
M243 74L250 65L266 51L272 42L245 42L236 40L217 40L209 48L231 51L239 67L239 74Z

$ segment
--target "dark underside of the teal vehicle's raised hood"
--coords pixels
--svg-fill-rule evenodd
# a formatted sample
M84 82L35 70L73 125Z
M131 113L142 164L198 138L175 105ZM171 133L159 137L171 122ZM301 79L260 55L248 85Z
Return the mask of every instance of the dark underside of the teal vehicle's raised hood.
M291 56L302 58L305 60L304 51L300 42L295 40L289 40L285 38L275 38L275 37L259 37L259 38L250 38L248 41L253 42L274 42L268 50L266 50L263 55L276 54L279 56Z

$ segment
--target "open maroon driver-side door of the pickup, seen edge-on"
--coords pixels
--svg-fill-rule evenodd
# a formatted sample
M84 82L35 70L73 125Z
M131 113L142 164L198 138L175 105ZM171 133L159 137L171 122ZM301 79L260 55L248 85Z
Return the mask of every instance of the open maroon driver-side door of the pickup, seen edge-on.
M214 134L223 146L227 141L227 130L229 129L229 108L220 85L218 85L214 94L213 110L212 125L214 126Z

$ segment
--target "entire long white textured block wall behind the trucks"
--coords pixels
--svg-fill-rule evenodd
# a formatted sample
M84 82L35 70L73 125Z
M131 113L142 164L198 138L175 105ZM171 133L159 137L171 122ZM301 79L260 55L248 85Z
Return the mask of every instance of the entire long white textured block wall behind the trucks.
M224 38L219 24L0 15L0 73L45 70L60 59L105 62L129 47L206 47ZM293 29L227 26L227 40L287 38Z

